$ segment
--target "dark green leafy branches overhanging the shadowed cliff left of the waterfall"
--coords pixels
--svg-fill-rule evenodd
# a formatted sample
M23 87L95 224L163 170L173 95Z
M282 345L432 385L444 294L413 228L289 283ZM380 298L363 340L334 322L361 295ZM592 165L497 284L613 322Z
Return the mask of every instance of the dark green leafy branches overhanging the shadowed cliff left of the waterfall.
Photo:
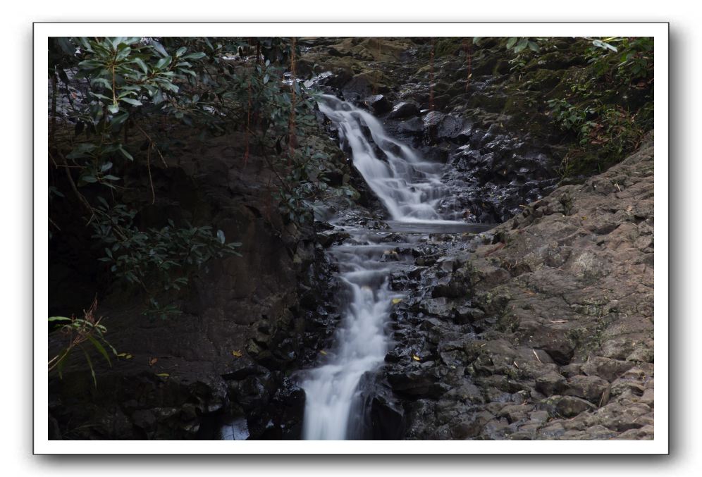
M192 272L215 257L238 255L240 243L208 223L168 219L154 228L135 221L156 201L154 168L173 163L164 124L202 139L244 130L243 162L253 151L264 156L278 178L285 218L309 220L304 204L326 187L319 172L326 158L297 147L316 122L312 95L295 78L296 53L288 38L50 39L49 239L63 225L51 216L52 204L70 202L113 282L142 290L144 314L179 314L173 299ZM149 199L130 194L144 189L125 180L135 167L147 171L140 197ZM102 338L104 329L82 326L85 320L66 318L70 324L56 327L56 319L52 329L72 326L79 341L93 342L95 330Z

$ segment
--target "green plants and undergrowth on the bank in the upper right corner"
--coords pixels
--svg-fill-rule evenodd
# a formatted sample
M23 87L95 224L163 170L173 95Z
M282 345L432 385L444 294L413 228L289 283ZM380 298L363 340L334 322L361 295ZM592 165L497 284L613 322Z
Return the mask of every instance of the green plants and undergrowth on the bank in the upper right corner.
M510 37L500 44L509 51L515 92L540 91L543 113L574 143L563 176L603 171L653 129L653 38ZM541 109L533 96L523 106Z

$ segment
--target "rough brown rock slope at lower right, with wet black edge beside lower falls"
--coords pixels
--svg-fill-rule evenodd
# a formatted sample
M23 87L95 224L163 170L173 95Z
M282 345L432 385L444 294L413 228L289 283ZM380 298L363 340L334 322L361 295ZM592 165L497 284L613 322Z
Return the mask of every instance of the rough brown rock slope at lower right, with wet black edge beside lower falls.
M653 438L651 142L491 233L433 240L436 263L426 244L395 277L417 290L383 371L405 438Z

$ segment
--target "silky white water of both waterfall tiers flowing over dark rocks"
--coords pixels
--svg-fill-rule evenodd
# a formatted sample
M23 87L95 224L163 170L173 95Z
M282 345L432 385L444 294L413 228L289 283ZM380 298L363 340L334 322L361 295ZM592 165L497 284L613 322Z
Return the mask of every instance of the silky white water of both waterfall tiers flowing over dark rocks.
M395 221L457 224L442 220L436 211L448 192L440 180L440 164L423 161L407 144L389 137L374 116L345 101L324 95L319 109L337 125L340 140L352 149L354 166ZM302 437L308 440L358 438L350 434L350 424L362 419L351 415L357 409L359 380L380 366L388 352L385 326L392 299L398 296L388 289L390 262L381 261L388 247L350 232L355 244L332 251L340 279L350 290L336 349L302 383L307 396Z

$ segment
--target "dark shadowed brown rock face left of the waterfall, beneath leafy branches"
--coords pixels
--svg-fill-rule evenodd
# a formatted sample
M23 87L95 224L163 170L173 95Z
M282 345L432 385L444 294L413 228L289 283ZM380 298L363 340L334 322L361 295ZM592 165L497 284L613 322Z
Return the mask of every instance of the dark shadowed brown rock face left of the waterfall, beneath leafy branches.
M111 368L94 361L97 388L81 356L66 366L63 379L52 376L52 438L219 438L221 424L235 416L247 416L250 438L299 438L304 395L290 373L312 359L310 349L321 347L338 318L331 265L312 224L285 224L271 197L272 173L255 154L243 163L242 137L181 139L168 155L169 167L152 171L157 200L140 214L140 224L161 227L166 216L214 224L228 240L242 242L242 256L207 264L178 297L183 313L166 319L143 316L133 290L105 290L98 313L106 317L111 344L128 357ZM339 154L328 138L315 140ZM343 158L338 164L343 185L349 171ZM126 180L145 180L145 172ZM80 236L82 224L77 227ZM87 268L97 263L85 261L81 273L56 254L52 304L82 306L63 290L91 276L99 283L99 271ZM95 283L82 287L94 293Z

